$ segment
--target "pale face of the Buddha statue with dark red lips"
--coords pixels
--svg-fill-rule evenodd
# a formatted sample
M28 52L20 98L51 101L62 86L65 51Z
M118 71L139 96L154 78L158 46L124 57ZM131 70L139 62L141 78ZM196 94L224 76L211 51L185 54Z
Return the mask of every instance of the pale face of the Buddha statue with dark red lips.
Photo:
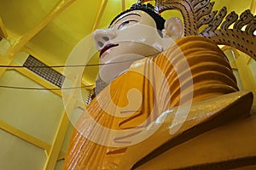
M96 30L94 38L100 63L108 64L100 67L100 77L107 83L125 72L134 61L163 50L154 19L142 10L121 15L108 29Z

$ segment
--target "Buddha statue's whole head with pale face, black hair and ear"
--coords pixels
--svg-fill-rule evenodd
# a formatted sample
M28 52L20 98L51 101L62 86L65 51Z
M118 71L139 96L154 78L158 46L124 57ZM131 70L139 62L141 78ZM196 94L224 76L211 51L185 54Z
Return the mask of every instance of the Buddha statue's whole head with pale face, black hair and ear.
M116 16L108 29L96 30L94 38L100 52L100 77L109 83L131 64L165 50L183 36L183 23L176 17L164 20L151 4L134 4ZM113 64L115 63L115 64Z

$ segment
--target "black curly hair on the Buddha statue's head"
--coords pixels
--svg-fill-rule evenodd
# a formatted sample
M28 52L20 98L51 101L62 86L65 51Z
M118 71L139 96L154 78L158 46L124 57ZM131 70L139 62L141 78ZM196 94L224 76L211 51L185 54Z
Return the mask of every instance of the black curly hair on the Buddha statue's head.
M111 26L113 24L113 22L115 20L117 20L121 15L125 14L125 13L128 13L130 11L133 11L133 10L142 10L144 12L146 12L147 14L149 14L155 21L155 24L156 24L156 28L159 30L159 31L162 31L164 29L164 25L165 25L165 22L166 20L163 19L160 14L156 14L154 12L154 6L150 3L148 4L140 4L140 3L136 3L136 4L133 4L131 6L131 8L123 11L122 13L120 13L119 15L117 15L110 23L109 26Z

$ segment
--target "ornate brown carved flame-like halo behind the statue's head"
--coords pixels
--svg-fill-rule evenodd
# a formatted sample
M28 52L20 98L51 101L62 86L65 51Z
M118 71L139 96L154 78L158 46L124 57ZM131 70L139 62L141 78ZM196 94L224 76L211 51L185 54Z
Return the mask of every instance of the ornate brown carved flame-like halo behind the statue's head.
M141 0L145 3L148 0ZM217 44L229 45L250 55L256 60L256 15L249 9L240 16L227 9L212 11L214 2L211 0L155 0L155 10L162 13L165 10L176 9L183 15L184 36L198 35L207 37ZM203 31L201 27L204 27Z

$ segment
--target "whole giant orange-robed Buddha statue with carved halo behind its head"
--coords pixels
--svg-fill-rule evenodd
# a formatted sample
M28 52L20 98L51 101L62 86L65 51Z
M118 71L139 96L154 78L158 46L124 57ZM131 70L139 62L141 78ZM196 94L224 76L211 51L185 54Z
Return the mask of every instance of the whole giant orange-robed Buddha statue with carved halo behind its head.
M255 17L224 20L226 9L212 12L210 0L145 2L94 32L102 64L96 97L75 125L62 169L256 168L253 93L237 88L218 48L256 59ZM171 9L183 21L160 16Z

